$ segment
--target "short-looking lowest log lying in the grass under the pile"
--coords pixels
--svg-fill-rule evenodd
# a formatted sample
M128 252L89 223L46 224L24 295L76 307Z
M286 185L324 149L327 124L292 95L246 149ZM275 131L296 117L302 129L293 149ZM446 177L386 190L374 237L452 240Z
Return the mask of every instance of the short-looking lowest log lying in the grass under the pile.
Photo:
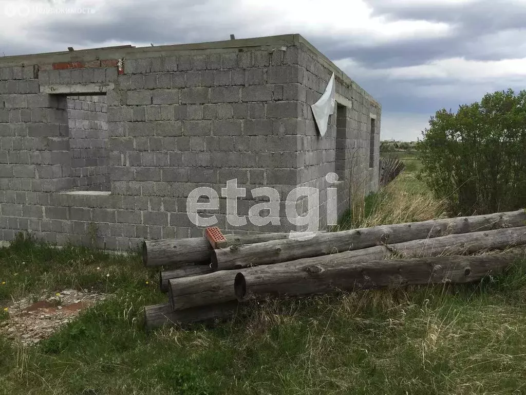
M172 311L170 303L154 304L144 309L144 324L147 330L162 327L164 324L188 324L193 322L225 319L234 315L238 303L230 302L219 305L209 305L196 309Z

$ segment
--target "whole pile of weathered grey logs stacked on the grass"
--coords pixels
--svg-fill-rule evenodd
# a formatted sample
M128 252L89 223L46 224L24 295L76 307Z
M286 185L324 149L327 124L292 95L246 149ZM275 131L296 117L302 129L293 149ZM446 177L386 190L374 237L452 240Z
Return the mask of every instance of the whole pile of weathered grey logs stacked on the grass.
M478 281L523 252L466 255L526 244L525 225L519 210L319 232L310 240L226 235L224 248L205 237L145 241L143 262L166 268L159 284L168 293L168 303L146 307L145 324L225 318L239 303L269 296Z

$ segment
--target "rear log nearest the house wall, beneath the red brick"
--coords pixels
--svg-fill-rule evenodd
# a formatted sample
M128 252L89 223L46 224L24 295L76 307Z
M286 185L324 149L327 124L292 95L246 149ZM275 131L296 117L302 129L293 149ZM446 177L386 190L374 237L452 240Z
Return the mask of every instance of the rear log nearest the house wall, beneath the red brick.
M264 243L271 240L287 239L288 233L263 233L255 235L226 234L227 245ZM145 240L143 242L143 263L147 267L180 266L188 263L208 264L212 248L203 238Z

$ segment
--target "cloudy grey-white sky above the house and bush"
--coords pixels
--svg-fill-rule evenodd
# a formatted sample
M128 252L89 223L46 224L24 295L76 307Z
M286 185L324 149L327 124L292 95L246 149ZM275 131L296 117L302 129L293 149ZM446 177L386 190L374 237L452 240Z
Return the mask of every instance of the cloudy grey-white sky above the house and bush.
M231 33L306 37L381 103L382 140L416 140L440 108L526 88L526 0L0 0L0 56Z

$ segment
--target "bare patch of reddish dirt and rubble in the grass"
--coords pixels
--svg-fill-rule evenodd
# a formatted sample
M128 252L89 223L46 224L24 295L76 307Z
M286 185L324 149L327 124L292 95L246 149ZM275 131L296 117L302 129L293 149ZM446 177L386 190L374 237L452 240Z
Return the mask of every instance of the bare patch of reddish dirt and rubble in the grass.
M68 289L52 297L41 295L21 299L8 307L9 319L0 322L0 332L24 344L37 343L72 321L80 311L107 296Z

